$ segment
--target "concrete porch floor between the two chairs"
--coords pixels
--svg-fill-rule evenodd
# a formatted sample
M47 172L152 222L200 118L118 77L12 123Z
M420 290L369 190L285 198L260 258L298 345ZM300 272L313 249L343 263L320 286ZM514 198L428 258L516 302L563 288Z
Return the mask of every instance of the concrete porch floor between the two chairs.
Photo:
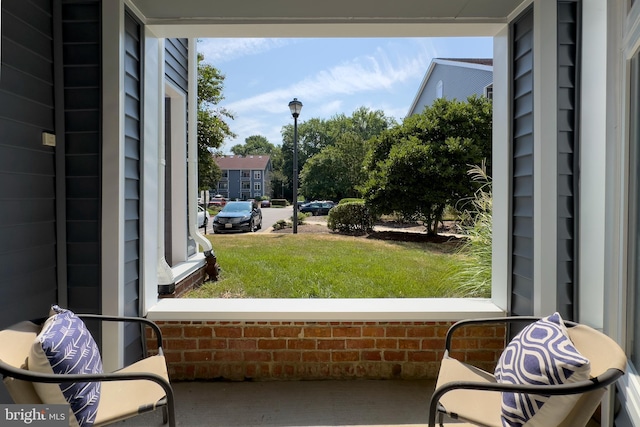
M434 381L177 382L179 426L426 426ZM118 425L162 426L161 411Z

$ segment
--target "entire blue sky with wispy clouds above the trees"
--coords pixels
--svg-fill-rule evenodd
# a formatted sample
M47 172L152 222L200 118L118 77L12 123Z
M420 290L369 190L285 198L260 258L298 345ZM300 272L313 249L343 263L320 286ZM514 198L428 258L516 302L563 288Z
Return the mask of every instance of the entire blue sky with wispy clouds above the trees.
M293 123L289 101L303 104L298 123L350 116L361 106L398 121L407 114L433 58L491 58L491 38L236 38L202 39L198 51L225 76L220 106L237 138L282 143Z

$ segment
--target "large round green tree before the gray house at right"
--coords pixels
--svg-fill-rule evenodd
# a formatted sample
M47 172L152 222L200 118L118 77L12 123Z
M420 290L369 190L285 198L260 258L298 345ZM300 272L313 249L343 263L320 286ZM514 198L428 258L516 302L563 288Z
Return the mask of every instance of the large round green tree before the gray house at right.
M477 189L470 165L486 161L489 168L491 119L486 98L438 99L374 138L362 187L367 203L378 214L421 220L436 234L445 207Z

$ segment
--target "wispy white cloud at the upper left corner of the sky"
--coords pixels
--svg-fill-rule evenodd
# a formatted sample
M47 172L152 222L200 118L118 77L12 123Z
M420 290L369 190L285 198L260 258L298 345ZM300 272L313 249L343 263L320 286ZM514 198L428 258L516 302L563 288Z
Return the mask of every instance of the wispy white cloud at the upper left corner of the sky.
M204 55L205 62L217 66L243 56L268 52L291 42L292 39L201 39L198 52Z

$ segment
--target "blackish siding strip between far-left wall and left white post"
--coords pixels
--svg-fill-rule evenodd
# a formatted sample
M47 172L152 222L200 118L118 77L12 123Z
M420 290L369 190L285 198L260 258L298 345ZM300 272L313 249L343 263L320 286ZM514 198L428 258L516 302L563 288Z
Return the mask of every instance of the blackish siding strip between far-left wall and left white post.
M68 306L99 313L102 152L100 2L63 1ZM59 147L62 148L62 147ZM94 331L94 334L97 331Z

